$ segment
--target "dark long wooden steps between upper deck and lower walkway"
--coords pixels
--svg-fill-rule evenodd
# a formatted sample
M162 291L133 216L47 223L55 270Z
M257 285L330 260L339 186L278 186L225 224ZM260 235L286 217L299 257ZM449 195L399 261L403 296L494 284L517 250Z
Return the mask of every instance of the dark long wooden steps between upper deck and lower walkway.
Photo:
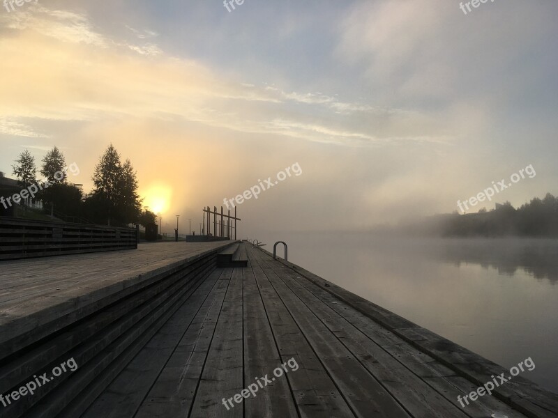
M2 405L0 415L79 416L216 269L219 251L146 274L148 279L110 293L109 300L69 314L61 320L63 326L51 321L4 341L0 344L1 394L19 389L33 376L45 372L52 376L52 369L70 358L77 370L53 378L33 395Z

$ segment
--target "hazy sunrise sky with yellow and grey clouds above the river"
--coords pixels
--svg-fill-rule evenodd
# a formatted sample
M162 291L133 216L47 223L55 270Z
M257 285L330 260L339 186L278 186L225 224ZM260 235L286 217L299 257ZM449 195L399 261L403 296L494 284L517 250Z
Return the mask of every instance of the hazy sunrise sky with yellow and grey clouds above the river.
M4 4L0 171L57 146L89 192L113 144L170 231L298 164L236 204L242 236L453 212L529 165L469 212L558 194L556 1L234 6Z

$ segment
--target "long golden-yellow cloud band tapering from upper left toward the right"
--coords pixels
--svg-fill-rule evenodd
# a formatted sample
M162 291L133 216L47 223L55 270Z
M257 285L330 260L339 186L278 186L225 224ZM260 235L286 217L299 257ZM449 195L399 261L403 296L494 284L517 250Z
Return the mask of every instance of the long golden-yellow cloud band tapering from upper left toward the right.
M12 120L165 118L345 146L377 146L400 137L422 142L432 136L433 142L439 141L438 132L386 132L386 123L382 132L382 127L359 121L363 116L358 114L373 114L377 120L390 119L393 127L405 125L407 114L398 109L248 84L199 61L165 54L153 43L137 45L101 34L86 15L36 6L8 26L12 33L0 45L0 54L7 57L11 77L19 81L5 87L0 110ZM158 36L126 28L142 40ZM4 131L25 132L31 130Z

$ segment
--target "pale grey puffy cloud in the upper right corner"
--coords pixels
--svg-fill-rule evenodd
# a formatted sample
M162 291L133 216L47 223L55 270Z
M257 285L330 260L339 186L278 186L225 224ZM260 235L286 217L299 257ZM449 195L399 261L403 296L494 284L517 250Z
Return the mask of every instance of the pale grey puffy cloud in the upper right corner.
M458 3L436 0L356 2L340 20L335 55L363 65L370 87L390 102L504 104L522 94L520 80L540 72L522 57L552 36L557 9L512 0L465 16Z

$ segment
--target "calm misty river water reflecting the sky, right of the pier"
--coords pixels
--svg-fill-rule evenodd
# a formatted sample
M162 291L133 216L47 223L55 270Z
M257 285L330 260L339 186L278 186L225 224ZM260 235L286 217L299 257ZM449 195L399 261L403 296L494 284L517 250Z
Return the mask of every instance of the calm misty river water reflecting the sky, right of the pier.
M259 237L257 237L259 238ZM289 261L558 392L558 240L289 233ZM282 256L282 250L280 251Z

